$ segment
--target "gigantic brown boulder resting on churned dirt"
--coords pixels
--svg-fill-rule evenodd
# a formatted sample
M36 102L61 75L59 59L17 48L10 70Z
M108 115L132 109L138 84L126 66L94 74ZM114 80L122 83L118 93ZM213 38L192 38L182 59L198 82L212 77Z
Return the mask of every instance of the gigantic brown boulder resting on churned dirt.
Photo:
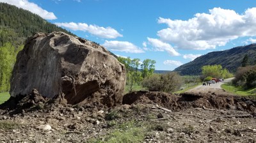
M122 103L125 68L104 47L61 32L36 33L19 52L11 79L11 96L37 89L68 103Z

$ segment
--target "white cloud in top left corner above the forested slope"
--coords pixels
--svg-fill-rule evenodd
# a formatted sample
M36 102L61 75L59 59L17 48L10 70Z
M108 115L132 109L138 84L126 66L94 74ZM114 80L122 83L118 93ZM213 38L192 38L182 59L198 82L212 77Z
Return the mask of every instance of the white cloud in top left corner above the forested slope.
M39 15L43 19L57 19L54 13L44 10L40 8L37 4L30 3L28 0L0 0L0 2L12 4L14 6L17 6L18 8L31 11L32 13Z

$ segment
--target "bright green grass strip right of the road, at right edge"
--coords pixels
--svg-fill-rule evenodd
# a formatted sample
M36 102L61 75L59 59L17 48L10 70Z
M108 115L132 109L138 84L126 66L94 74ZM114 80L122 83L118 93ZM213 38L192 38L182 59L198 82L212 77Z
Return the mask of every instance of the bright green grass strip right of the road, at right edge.
M244 90L241 87L232 86L230 84L222 84L221 88L229 93L234 93L239 96L255 96L256 97L256 88Z

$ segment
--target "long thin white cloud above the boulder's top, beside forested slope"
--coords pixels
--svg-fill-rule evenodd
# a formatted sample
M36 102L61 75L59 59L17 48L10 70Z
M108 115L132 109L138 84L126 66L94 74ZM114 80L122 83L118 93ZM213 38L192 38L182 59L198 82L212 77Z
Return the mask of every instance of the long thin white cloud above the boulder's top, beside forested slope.
M100 27L96 25L88 25L86 23L75 23L75 22L65 22L65 23L55 23L57 26L66 27L74 31L86 31L90 34L98 36L100 38L117 38L123 35L118 33L112 27Z

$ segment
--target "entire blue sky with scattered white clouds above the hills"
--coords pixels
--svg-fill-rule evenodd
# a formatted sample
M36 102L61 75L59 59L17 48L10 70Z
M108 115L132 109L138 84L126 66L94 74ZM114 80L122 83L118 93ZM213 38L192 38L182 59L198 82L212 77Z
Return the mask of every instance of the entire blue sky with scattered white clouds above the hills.
M252 0L0 0L37 13L118 56L174 70L216 50L256 43Z

